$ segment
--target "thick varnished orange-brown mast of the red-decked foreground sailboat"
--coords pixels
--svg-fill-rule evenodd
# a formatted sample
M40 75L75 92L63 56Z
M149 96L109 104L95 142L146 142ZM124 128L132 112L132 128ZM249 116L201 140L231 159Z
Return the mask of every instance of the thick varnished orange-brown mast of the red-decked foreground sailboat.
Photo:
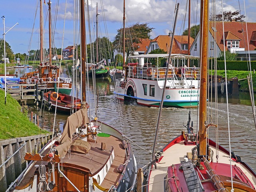
M206 84L208 63L208 0L201 0L200 37L201 37L201 74L199 105L199 155L206 156Z

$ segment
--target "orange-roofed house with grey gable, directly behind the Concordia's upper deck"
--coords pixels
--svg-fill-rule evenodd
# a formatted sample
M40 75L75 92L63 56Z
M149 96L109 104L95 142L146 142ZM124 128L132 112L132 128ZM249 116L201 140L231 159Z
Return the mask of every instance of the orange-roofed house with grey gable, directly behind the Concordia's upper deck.
M152 50L162 49L167 53L170 52L170 44L172 40L172 33L169 35L159 35L154 38L149 46L146 54L149 54ZM194 38L190 37L190 46L194 42ZM188 54L188 36L174 35L174 42L172 44L172 54Z

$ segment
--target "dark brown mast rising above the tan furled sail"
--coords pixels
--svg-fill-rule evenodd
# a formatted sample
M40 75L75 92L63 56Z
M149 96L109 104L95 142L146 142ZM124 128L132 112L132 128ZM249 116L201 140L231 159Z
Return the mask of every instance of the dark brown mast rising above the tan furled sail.
M86 69L86 42L85 42L85 10L84 10L84 0L80 0L80 30L81 30L81 69L82 69L82 102L86 102L86 76L85 76L85 69Z

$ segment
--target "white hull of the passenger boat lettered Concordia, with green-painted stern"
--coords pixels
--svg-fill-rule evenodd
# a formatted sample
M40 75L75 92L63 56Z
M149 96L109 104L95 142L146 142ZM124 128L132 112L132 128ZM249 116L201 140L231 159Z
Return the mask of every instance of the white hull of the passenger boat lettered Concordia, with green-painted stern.
M140 105L159 107L162 99L163 82L163 80L137 78L128 78L128 81L124 82L124 80L119 79L116 80L114 94L120 100L136 100L137 104ZM172 82L169 83L172 84ZM197 107L198 96L198 88L166 88L163 107Z

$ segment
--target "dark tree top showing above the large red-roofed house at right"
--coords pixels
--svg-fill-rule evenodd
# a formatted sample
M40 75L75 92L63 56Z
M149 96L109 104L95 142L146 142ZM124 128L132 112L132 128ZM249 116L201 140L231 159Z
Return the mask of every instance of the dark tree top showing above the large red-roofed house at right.
M237 11L224 11L223 12L223 20L224 21L231 21L235 20L237 22L244 21L243 18L245 18L244 15L241 15L240 12ZM210 21L214 20L213 16L210 16ZM222 13L220 12L219 14L216 14L215 16L216 21L222 21Z

